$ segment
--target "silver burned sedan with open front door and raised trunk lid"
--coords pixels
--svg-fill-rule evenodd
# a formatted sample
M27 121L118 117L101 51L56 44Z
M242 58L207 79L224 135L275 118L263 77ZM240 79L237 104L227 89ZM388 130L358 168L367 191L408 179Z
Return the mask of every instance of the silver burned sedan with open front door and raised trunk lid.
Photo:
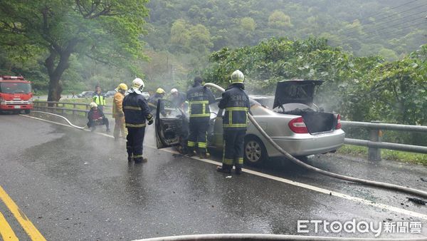
M312 103L315 90L321 84L322 81L280 81L275 96L249 96L253 118L290 155L305 157L334 152L344 144L339 114L324 112ZM164 101L164 106L171 105ZM218 109L218 103L211 103L210 108L208 147L222 149L224 111ZM179 146L184 150L188 137L188 113L181 109L168 109L169 114L161 116L157 108L157 148ZM258 164L281 155L251 122L248 123L245 163Z

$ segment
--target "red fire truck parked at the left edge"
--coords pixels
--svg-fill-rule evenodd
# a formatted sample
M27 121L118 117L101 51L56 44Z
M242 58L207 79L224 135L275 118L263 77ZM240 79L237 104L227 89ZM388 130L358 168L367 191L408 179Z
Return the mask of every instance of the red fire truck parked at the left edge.
M31 83L22 76L0 76L0 112L30 113L32 109Z

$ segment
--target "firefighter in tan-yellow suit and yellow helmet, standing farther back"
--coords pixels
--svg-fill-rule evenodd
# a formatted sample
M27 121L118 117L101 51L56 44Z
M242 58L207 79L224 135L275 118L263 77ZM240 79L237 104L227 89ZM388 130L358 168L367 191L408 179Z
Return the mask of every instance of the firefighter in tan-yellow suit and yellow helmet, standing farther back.
M115 118L114 131L112 135L114 140L119 140L120 133L122 133L122 138L125 138L125 113L123 113L123 98L125 98L125 93L127 91L127 85L125 83L120 83L119 86L115 89L116 93L112 98L112 117Z

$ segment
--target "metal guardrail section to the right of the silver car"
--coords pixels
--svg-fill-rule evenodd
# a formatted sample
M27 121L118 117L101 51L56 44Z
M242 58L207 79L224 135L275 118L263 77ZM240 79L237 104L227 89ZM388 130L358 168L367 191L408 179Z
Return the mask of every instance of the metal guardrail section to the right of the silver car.
M426 153L427 146L421 145L405 145L399 143L384 143L381 142L382 130L399 130L399 131L416 131L427 133L427 126L423 125L398 125L379 123L379 121L357 122L341 120L341 125L345 127L367 128L370 130L370 140L359 140L345 138L344 144L360 145L368 148L368 160L381 160L381 148L389 150L403 150L413 153Z

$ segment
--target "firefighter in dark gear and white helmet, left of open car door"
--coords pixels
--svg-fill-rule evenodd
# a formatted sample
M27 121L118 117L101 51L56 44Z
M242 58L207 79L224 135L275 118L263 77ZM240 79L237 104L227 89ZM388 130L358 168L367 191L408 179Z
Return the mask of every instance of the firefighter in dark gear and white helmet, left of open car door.
M153 115L149 113L149 107L142 89L144 81L135 78L132 87L127 91L129 94L123 99L122 111L125 113L127 128L127 160L135 160L135 163L146 163L147 158L142 156L142 143L144 142L146 120L148 124L153 123Z

